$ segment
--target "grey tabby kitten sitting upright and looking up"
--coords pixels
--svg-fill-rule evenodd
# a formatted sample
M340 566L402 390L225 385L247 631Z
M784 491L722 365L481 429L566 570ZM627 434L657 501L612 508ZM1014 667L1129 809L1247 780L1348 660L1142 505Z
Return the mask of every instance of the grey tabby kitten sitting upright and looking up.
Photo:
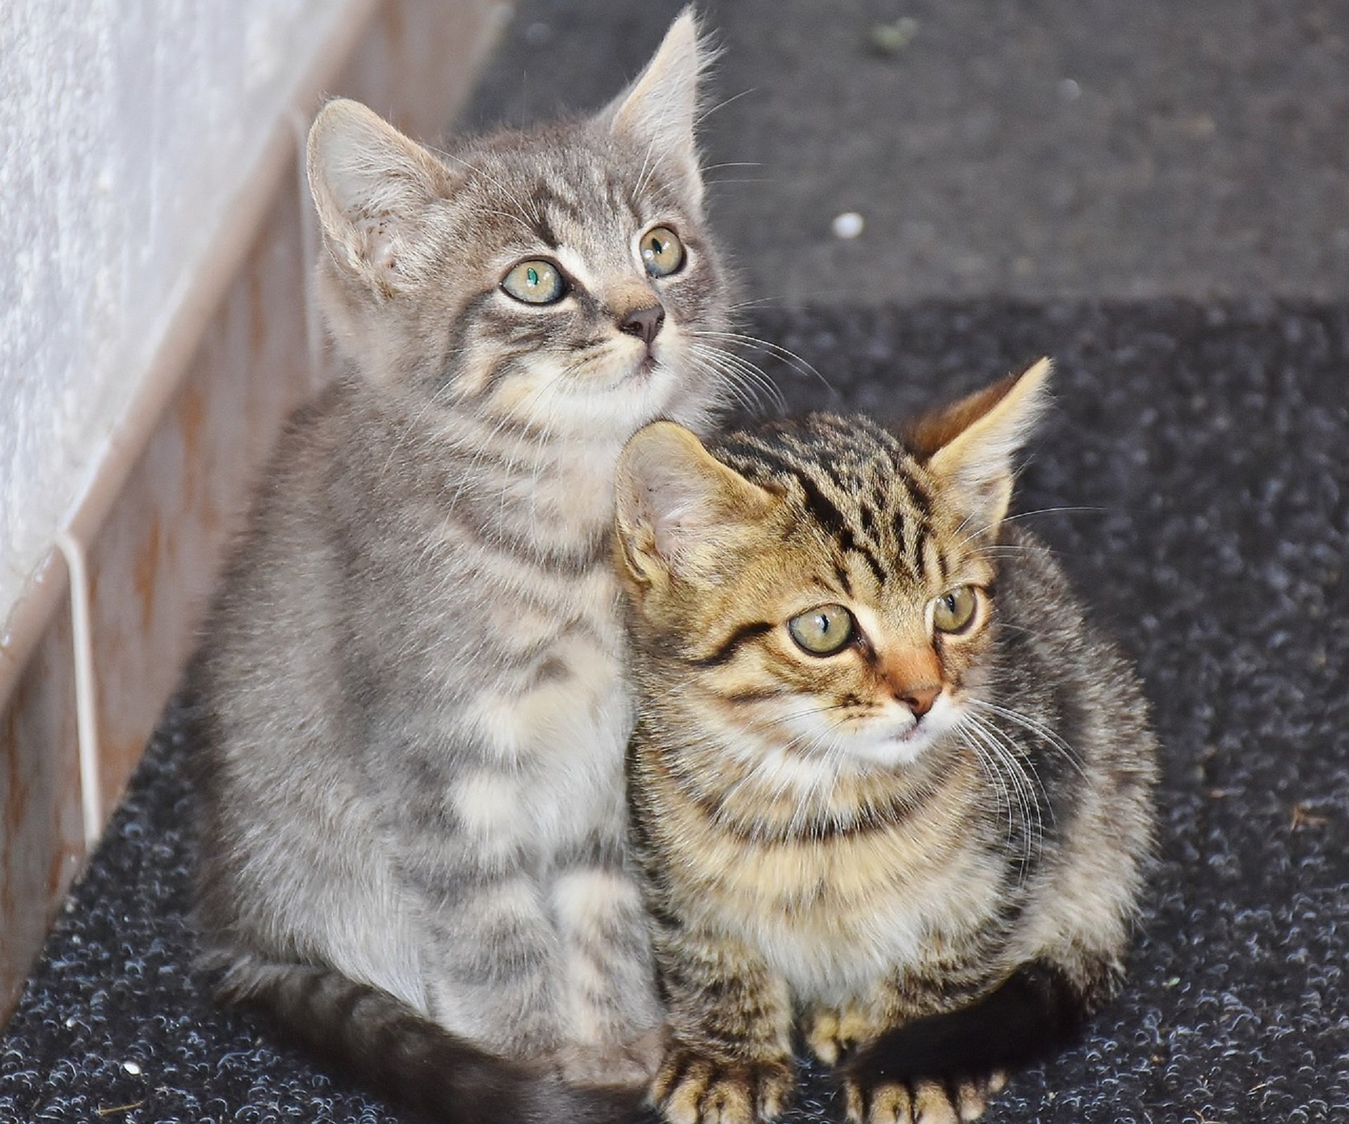
M348 374L282 437L189 679L204 958L437 1119L591 1119L571 1085L657 1059L608 532L627 437L706 429L728 382L706 62L685 12L590 119L310 131Z

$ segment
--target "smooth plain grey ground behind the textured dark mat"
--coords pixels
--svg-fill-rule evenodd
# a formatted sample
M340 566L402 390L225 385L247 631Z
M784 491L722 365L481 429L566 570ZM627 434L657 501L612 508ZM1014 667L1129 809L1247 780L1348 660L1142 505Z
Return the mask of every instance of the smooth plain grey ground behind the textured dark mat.
M712 0L718 225L754 297L1349 289L1344 0ZM598 107L679 0L523 0L469 123ZM908 18L907 47L873 30ZM855 210L855 242L831 233Z

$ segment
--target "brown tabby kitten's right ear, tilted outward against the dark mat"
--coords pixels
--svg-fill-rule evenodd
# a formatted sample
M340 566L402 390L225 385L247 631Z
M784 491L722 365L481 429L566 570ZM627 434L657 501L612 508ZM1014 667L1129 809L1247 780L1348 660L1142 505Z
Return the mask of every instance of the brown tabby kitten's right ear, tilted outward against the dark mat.
M905 434L909 449L969 507L977 529L994 529L1006 515L1016 455L1050 408L1051 368L1041 359L928 414Z

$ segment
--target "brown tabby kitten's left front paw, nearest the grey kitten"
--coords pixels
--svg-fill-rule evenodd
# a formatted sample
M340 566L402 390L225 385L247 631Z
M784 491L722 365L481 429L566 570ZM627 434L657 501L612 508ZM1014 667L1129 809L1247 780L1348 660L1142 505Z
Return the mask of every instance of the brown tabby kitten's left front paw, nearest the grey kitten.
M722 1062L672 1047L652 1085L669 1124L762 1124L786 1109L796 1084L792 1062Z

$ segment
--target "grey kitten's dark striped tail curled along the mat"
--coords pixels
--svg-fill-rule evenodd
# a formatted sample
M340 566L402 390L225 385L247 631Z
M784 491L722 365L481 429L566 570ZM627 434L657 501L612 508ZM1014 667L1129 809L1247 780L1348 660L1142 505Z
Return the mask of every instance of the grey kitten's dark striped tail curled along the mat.
M223 999L254 1008L333 1073L436 1124L619 1124L645 1090L577 1088L424 1019L387 992L309 965L250 965Z

